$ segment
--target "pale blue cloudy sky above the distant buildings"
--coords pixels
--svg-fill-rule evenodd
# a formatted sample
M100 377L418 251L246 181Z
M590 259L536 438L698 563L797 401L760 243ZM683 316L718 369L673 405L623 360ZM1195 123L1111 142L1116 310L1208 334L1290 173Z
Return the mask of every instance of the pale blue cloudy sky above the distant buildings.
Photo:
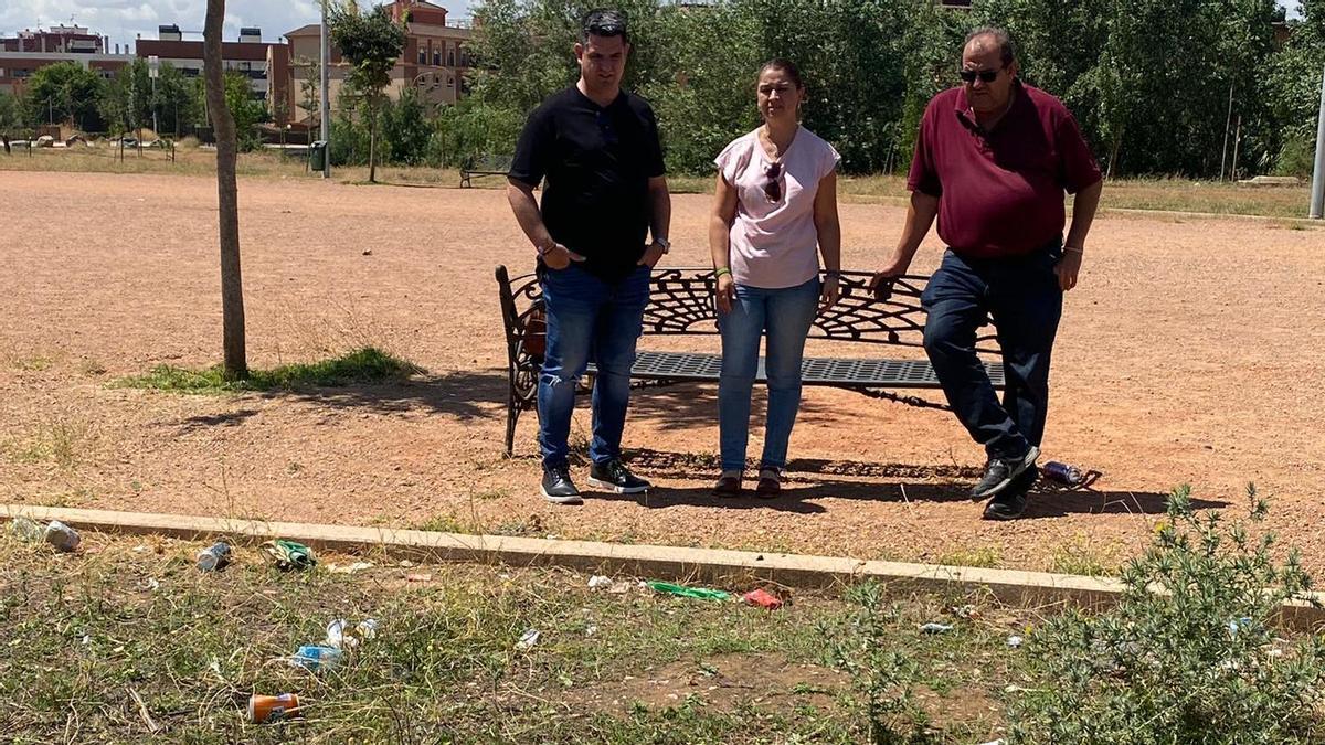
M453 19L469 15L469 0L433 1L450 11ZM1296 11L1297 0L1279 0L1279 4ZM139 33L143 38L156 38L156 27L162 24L201 32L205 11L207 0L0 0L0 36L13 36L38 24L68 24L72 17L93 33L109 34L114 45L132 41ZM236 38L240 27L258 27L262 38L276 41L317 19L317 0L229 0L225 38Z

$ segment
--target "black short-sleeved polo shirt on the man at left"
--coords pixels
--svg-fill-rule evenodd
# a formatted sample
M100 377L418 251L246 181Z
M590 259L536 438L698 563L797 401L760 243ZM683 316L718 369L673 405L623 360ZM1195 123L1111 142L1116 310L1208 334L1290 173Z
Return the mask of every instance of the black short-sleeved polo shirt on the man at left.
M607 107L578 87L529 115L509 176L543 188L543 224L584 256L584 268L615 281L644 256L649 179L664 175L657 119L648 102L621 91Z

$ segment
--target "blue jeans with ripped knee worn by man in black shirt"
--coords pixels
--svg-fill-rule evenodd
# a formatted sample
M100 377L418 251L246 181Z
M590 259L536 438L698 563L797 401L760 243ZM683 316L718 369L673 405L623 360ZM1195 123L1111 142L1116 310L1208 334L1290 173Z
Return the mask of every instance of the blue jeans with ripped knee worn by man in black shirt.
M649 302L649 268L620 282L606 282L571 264L543 269L547 351L538 376L538 444L543 468L566 467L575 388L590 359L594 379L594 441L590 457L603 464L621 457L621 432L631 399L631 366Z

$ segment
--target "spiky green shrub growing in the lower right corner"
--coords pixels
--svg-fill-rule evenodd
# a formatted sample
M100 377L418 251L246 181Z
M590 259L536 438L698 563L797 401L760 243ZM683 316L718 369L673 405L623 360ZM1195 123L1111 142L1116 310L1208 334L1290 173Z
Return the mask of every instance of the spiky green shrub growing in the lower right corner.
M1248 502L1260 524L1252 487ZM1031 635L1037 680L1011 707L1011 741L1320 742L1325 644L1275 631L1310 578L1296 553L1276 563L1273 542L1196 516L1190 488L1175 490L1154 544L1124 569L1117 607L1068 610Z

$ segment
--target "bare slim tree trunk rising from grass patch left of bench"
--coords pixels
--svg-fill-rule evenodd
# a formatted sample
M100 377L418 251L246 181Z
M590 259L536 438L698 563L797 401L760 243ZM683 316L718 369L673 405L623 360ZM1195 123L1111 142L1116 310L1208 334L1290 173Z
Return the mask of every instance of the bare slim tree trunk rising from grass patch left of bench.
M240 207L235 183L235 117L225 105L225 68L221 64L221 23L225 0L207 0L203 27L203 72L207 76L207 109L216 133L216 194L221 239L221 343L225 378L248 378L244 351L244 281L240 274Z

